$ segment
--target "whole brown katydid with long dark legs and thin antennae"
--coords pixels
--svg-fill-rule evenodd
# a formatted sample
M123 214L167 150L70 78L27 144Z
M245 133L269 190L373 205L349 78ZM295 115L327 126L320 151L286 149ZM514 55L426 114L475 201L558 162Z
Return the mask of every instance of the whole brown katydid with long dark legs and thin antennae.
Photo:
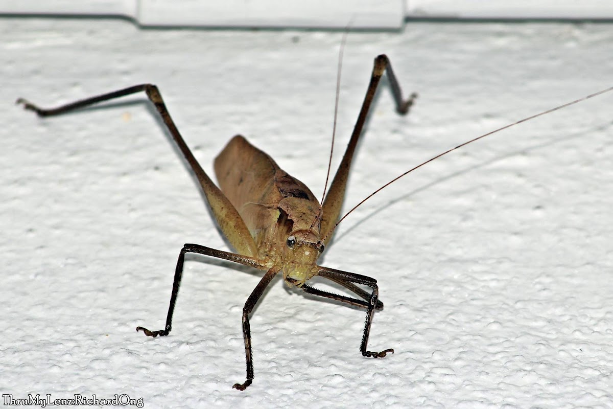
M249 313L251 313L257 301L262 296L264 289L279 272L283 272L283 279L288 285L297 286L308 294L327 297L339 302L345 302L350 305L365 308L366 319L362 342L360 344L360 353L362 353L363 356L375 358L385 357L387 353L394 352L391 348L380 352L368 350L368 335L370 334L373 312L383 308L383 303L378 299L379 294L376 280L364 275L321 267L316 264L319 255L324 250L324 245L329 243L335 227L346 215L351 213L354 208L364 203L364 201L373 196L373 194L376 194L379 190L395 182L395 180L398 180L398 178L403 177L414 169L440 156L446 155L452 150L463 147L468 143L489 136L494 132L508 128L514 124L530 120L544 115L545 113L562 109L563 107L575 104L584 99L613 90L613 87L611 87L599 93L569 102L568 104L560 105L554 109L517 121L516 123L504 126L496 131L489 132L462 143L462 145L455 148L449 149L423 162L419 166L408 170L377 189L339 220L354 150L360 134L362 133L362 128L364 127L368 110L375 96L379 80L384 73L387 74L387 78L389 79L389 85L392 89L396 109L399 113L406 114L414 102L414 94L408 99L403 99L400 86L398 85L397 78L392 71L387 56L378 56L375 59L370 84L368 85L367 93L352 132L351 139L349 140L348 147L346 148L345 155L341 160L337 174L321 206L307 186L286 174L286 172L276 165L270 156L253 147L253 145L249 144L242 136L235 136L230 140L226 148L224 148L215 159L215 173L219 182L218 188L192 155L183 137L181 137L180 132L173 123L166 105L162 100L162 96L155 85L135 85L112 93L82 99L55 109L40 109L36 105L32 105L23 99L18 100L18 103L23 104L26 109L36 112L41 117L47 117L80 109L98 102L109 101L110 99L139 93L141 91L147 94L150 101L153 102L158 110L159 115L161 115L173 139L185 156L186 161L196 174L208 204L211 207L213 216L221 231L226 235L237 253L228 253L226 251L215 250L196 244L184 245L177 261L166 326L159 331L150 331L144 327L137 327L137 331L143 331L145 335L150 337L157 337L158 335L168 335L172 330L172 316L177 300L181 276L183 274L183 263L186 253L205 254L207 256L226 259L246 266L255 267L259 270L264 270L264 277L261 278L256 288L251 292L243 308L242 324L243 337L245 340L246 380L242 384L234 384L234 388L244 390L253 382L254 378ZM323 291L308 285L307 281L314 276L333 281L333 283L353 292L357 297L354 298L332 294L331 292ZM367 292L358 285L367 286L371 291Z

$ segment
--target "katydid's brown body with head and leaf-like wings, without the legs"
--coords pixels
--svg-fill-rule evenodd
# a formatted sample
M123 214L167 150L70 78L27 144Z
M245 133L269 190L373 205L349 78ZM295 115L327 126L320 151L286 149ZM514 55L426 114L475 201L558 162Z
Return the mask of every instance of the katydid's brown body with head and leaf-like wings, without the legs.
M290 286L300 287L317 275L322 210L304 183L242 136L232 138L215 158L215 175L249 229L259 261L282 271ZM288 238L295 240L291 247Z

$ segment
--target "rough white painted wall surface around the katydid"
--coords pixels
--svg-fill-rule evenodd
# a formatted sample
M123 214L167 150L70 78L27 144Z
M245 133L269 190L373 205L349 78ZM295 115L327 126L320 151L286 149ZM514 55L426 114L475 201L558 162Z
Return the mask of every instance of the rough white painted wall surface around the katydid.
M379 281L386 308L365 359L364 312L261 273L188 262L226 249L147 104L39 120L13 101L69 102L159 85L206 170L238 132L321 194L340 33L139 31L109 20L0 20L0 390L16 398L127 393L147 407L571 408L613 405L613 95L501 132L371 199L322 264ZM597 24L411 23L352 33L337 153L387 53L408 117L379 97L352 205L403 170L498 126L611 85L613 29ZM335 155L335 163L338 156Z

